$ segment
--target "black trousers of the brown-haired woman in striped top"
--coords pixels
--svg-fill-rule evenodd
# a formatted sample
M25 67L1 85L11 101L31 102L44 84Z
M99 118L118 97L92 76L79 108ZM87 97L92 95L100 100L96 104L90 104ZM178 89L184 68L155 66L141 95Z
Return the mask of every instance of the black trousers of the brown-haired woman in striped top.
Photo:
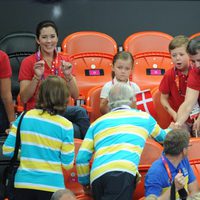
M53 192L15 188L15 200L50 200Z

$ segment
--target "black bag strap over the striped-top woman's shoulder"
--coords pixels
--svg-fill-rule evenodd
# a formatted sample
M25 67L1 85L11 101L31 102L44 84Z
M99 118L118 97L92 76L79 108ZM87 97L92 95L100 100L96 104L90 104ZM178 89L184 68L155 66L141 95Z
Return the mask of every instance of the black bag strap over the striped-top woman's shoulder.
M24 111L19 119L19 123L17 126L17 133L16 133L16 142L15 142L15 150L14 150L14 155L10 160L10 167L12 168L17 160L17 156L18 156L18 152L19 152L19 147L20 147L20 127L21 127L21 123L22 123L22 119L24 117L24 115L26 114L27 111Z

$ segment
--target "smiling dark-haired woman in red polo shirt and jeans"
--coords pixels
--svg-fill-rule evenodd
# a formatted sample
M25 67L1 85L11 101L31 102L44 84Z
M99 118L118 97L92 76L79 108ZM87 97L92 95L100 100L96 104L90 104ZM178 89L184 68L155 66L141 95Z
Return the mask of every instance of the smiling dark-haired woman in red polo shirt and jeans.
M20 67L20 97L30 110L35 106L40 83L49 75L62 77L66 81L72 98L79 96L76 79L72 75L72 64L67 56L56 51L58 43L58 29L53 21L42 21L36 28L36 42L38 51L26 57ZM90 125L85 109L79 106L69 106L64 113L75 128L75 137L84 138Z

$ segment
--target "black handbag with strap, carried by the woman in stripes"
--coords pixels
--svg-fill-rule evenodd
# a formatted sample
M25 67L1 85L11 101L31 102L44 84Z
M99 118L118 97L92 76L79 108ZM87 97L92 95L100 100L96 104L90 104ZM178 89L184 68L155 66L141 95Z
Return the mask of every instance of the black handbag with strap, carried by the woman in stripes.
M4 172L3 172L2 186L1 186L1 193L2 193L3 199L8 198L9 200L14 200L14 180L15 180L16 171L19 167L17 156L18 156L18 151L21 144L20 126L25 114L26 114L26 111L22 113L19 120L18 127L17 127L14 155L10 160L9 166L5 167ZM1 200L1 197L0 197L0 200Z

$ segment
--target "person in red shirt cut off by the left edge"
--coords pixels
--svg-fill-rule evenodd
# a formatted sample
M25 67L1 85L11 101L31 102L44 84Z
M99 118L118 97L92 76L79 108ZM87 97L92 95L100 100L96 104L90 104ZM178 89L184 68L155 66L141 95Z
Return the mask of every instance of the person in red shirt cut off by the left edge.
M15 120L14 105L11 93L12 70L7 54L0 51L0 133L9 128Z

